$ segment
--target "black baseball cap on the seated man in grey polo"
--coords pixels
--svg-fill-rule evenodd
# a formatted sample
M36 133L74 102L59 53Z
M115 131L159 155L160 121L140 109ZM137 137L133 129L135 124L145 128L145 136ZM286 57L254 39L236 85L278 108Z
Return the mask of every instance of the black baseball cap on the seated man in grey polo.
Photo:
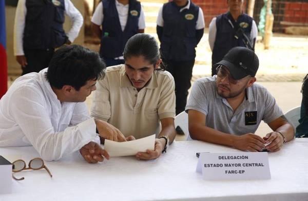
M259 59L255 52L249 48L235 47L216 63L214 67L224 65L236 80L242 79L247 75L255 77L259 68Z

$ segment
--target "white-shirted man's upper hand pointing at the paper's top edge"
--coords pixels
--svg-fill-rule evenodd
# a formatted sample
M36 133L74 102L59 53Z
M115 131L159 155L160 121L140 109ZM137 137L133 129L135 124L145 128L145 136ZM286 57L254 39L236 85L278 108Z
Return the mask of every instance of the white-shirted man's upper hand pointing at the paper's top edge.
M95 124L97 125L99 135L102 138L107 139L107 140L116 141L116 142L127 141L125 136L122 134L122 132L118 128L114 127L113 125L105 121L98 120L98 119L95 119ZM129 139L131 139L131 137Z

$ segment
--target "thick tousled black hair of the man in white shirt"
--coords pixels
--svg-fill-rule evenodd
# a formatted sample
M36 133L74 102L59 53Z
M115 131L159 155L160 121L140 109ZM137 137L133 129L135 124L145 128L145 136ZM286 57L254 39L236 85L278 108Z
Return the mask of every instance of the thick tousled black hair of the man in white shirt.
M105 68L106 64L98 53L78 44L62 46L49 62L46 79L55 88L71 85L79 91L88 80L104 78Z

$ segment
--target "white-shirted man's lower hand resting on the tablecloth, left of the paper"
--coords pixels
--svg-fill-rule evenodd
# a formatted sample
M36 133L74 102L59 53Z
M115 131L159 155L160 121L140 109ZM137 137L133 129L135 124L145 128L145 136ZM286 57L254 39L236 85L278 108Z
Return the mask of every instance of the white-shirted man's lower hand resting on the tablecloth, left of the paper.
M82 157L88 163L97 163L104 161L104 157L109 160L109 154L99 144L89 142L80 149Z

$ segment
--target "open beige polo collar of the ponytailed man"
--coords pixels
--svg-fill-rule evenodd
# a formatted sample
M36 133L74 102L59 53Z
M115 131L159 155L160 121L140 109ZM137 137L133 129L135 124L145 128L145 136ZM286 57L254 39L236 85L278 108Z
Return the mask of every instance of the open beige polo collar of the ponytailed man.
M158 87L156 73L157 73L157 71L153 72L152 77L148 81L147 85L144 86L144 88L156 88L156 87ZM122 67L120 69L120 87L134 88L134 86L131 84L129 78L126 75L124 64L122 65Z

